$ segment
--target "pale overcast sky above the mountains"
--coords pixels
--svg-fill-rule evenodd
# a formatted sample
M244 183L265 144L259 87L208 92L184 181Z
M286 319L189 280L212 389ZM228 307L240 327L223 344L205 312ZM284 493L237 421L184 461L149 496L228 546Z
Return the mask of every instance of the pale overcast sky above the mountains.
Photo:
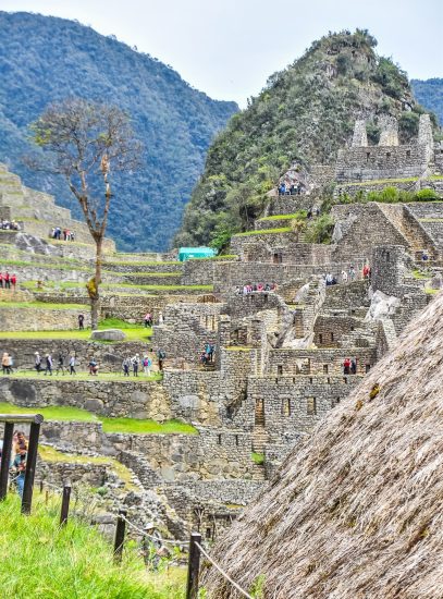
M0 0L76 19L242 107L329 30L367 28L413 78L443 76L443 0Z

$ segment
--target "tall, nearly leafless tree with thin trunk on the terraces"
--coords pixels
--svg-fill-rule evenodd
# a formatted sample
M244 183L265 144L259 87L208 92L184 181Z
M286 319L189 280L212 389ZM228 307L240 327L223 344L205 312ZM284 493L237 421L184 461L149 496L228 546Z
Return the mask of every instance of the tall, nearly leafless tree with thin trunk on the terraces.
M87 283L96 329L102 246L113 197L111 175L138 166L140 144L122 110L81 98L49 106L30 129L36 144L48 152L48 161L34 168L64 176L96 243L95 276Z

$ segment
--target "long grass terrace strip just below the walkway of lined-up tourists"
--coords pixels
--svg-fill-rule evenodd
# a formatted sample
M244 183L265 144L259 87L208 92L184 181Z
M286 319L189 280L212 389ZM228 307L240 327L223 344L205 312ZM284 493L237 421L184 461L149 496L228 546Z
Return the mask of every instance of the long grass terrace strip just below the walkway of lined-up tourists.
M104 432L125 432L133 435L198 435L192 425L181 420L157 423L151 419L108 418L96 416L87 409L65 405L48 407L21 407L7 402L0 402L0 414L41 414L46 420L101 423Z

